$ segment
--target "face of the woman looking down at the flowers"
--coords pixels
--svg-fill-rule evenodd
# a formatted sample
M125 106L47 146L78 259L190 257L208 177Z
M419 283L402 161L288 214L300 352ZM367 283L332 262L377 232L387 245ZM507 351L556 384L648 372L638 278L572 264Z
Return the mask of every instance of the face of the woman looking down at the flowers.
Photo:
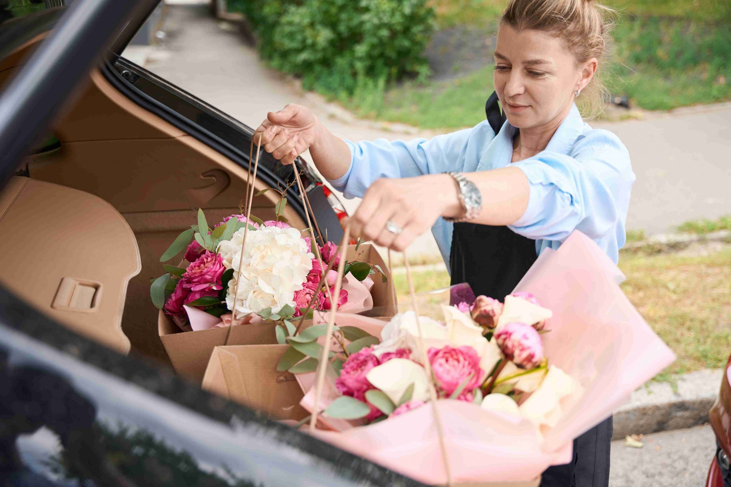
M495 64L495 91L510 124L518 129L563 120L574 92L591 80L589 76L584 83L585 66L577 66L561 39L504 24L498 31ZM594 74L594 69L589 71Z

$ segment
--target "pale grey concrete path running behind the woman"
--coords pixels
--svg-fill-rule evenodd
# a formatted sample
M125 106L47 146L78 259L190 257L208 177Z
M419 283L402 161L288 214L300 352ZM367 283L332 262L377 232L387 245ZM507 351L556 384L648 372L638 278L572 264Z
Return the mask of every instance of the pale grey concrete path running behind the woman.
M333 117L335 112L318 96L303 93L288 77L265 67L238 27L212 18L205 5L167 5L163 30L167 35L162 46L142 55L132 49L126 55L249 126L258 126L268 111L296 103L311 107L333 133L353 141L434 135L398 124L379 130L374 123ZM678 113L593 124L618 134L632 156L637 182L628 229L654 234L683 221L731 212L731 104ZM344 203L352 211L358 202ZM436 253L429 234L411 249L414 256Z

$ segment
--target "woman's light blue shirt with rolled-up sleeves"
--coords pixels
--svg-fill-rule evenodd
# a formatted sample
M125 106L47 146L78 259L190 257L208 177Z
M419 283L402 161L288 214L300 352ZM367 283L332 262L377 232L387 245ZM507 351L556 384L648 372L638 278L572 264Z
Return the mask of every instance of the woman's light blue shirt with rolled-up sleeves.
M511 165L517 131L506 122L496 135L485 120L471 129L433 139L346 141L352 156L350 168L330 183L346 198L361 198L380 177L506 167ZM624 225L635 174L629 153L615 134L592 129L574 105L545 150L512 166L519 167L530 183L528 207L510 225L512 231L536 240L540 254L546 248L558 248L572 231L580 230L617 262L625 242ZM431 231L448 268L452 223L439 218Z

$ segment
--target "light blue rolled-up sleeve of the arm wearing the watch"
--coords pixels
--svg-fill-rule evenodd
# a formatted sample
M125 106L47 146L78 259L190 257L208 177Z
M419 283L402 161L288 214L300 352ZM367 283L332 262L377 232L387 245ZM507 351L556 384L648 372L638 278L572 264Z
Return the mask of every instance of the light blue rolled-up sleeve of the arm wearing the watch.
M610 131L585 132L569 155L545 150L512 164L530 183L528 207L510 228L531 239L562 242L574 230L624 245L635 174L629 153Z

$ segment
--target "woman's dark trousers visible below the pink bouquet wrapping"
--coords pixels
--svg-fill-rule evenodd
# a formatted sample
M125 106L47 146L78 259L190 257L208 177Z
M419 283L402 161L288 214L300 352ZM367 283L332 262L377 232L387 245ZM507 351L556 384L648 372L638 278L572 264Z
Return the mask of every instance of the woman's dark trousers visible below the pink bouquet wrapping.
M540 487L608 487L612 418L574 440L574 459L543 472Z

